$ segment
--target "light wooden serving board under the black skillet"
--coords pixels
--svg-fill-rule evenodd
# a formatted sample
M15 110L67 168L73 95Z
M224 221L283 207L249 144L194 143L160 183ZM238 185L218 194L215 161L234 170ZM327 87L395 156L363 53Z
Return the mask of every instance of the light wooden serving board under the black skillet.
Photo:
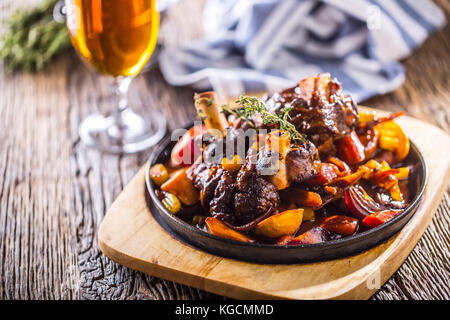
M397 122L428 165L423 202L408 224L387 242L356 256L295 265L263 265L226 259L168 234L145 200L142 167L108 210L98 232L110 259L153 276L237 299L368 299L399 268L430 223L450 178L450 137L423 121Z

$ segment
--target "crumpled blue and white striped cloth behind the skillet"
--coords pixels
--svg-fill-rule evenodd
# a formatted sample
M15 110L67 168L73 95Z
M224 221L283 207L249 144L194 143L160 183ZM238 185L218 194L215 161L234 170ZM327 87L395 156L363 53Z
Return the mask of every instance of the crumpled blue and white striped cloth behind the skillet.
M209 0L206 38L160 55L172 85L221 98L330 72L356 101L394 90L398 62L445 16L431 0Z

